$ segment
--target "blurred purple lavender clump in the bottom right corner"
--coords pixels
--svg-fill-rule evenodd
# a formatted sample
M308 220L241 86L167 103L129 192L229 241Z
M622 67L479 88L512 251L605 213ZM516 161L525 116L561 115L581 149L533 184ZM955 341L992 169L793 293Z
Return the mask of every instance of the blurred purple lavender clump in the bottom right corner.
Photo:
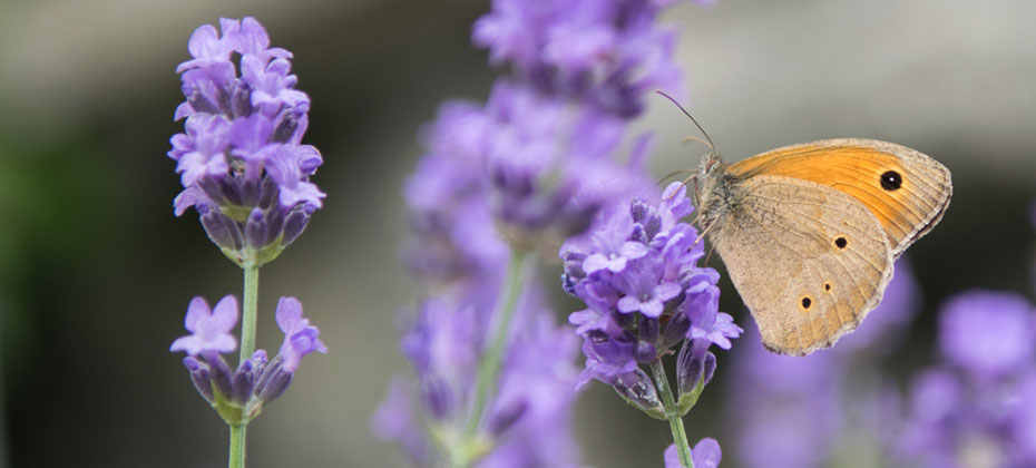
M1036 308L1009 293L969 291L940 311L945 364L910 388L896 441L905 464L922 467L1036 466Z

